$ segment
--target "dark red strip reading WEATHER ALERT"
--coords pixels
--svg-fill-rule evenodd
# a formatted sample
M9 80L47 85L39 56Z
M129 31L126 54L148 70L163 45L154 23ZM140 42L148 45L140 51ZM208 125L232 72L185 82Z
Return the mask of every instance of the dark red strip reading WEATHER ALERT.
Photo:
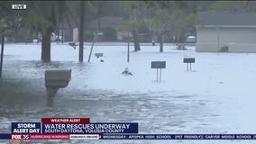
M88 124L89 118L41 118L42 124Z

